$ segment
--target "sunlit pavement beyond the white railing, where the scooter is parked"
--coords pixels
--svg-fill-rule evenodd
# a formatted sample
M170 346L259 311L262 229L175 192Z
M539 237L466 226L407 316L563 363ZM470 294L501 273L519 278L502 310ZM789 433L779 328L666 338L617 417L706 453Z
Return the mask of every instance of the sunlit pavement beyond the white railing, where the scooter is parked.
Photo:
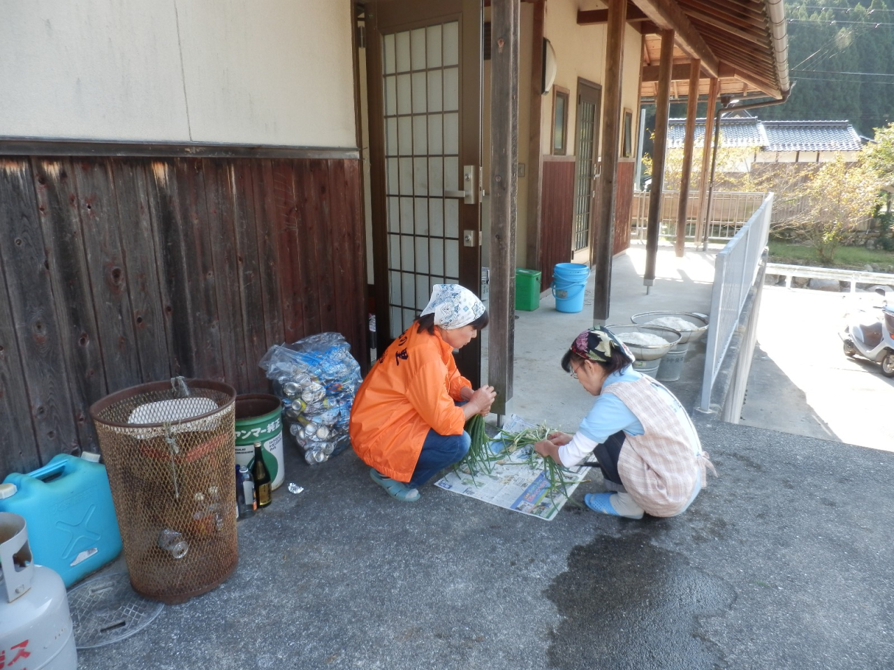
M856 294L859 299L874 294ZM894 450L894 379L848 358L838 336L848 294L763 287L742 423Z

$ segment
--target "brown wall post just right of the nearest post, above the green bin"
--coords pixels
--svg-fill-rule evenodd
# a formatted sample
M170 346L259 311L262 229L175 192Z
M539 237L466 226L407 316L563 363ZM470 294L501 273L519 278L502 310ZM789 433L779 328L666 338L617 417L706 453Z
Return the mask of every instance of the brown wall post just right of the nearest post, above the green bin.
M543 188L543 147L541 147L541 114L543 113L544 78L544 5L534 3L534 29L531 35L531 98L527 121L527 267L540 270L541 197Z

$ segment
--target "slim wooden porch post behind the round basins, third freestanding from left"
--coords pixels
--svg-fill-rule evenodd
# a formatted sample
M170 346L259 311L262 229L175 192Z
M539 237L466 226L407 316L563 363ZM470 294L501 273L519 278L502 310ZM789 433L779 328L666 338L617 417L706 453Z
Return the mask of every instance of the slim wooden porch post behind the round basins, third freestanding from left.
M645 276L643 283L655 283L655 257L658 255L658 233L662 215L664 190L664 155L667 151L668 112L671 105L671 73L673 71L673 30L662 30L662 55L658 63L658 93L655 96L655 141L652 159L652 193L649 195L649 220L645 223ZM648 293L648 289L646 289Z

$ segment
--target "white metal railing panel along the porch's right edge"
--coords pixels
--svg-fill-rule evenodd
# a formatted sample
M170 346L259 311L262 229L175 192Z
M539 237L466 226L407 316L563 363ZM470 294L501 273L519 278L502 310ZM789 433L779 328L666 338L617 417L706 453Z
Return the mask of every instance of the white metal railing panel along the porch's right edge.
M755 283L758 265L767 245L772 216L773 194L769 194L757 211L714 261L714 285L711 293L711 317L704 352L704 377L700 408L707 412L711 391L720 372L723 356L738 327L748 291Z

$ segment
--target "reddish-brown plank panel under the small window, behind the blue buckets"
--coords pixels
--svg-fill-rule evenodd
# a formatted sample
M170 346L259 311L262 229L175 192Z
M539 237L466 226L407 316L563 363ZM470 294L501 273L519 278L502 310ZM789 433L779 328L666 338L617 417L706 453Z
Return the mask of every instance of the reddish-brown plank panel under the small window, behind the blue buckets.
M541 192L540 289L552 281L552 268L571 260L574 218L574 156L544 156Z

